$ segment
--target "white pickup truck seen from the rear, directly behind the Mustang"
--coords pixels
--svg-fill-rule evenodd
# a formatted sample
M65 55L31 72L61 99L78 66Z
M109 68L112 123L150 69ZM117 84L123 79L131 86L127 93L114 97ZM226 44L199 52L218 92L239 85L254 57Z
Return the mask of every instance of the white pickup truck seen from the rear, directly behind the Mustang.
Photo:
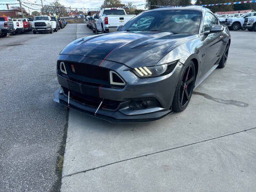
M135 15L127 15L122 8L105 8L99 13L99 19L96 21L95 33L108 33L116 31L118 26L124 25Z

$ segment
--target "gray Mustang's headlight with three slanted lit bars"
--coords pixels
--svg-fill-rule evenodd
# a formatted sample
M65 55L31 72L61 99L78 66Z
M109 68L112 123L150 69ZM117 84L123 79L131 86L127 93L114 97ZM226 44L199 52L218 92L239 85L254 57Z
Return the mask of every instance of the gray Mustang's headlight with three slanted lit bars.
M138 67L132 69L132 72L140 78L157 77L171 73L178 61L156 65L151 67Z

